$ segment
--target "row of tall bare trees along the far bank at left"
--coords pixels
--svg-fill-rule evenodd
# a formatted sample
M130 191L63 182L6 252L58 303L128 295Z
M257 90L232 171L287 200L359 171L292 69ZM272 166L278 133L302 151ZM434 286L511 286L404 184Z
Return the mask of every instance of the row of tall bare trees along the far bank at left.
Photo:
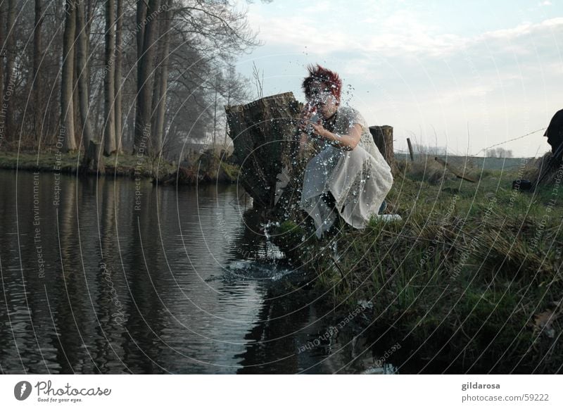
M224 143L222 106L250 98L235 61L256 35L230 0L2 1L0 149L177 157L206 134Z

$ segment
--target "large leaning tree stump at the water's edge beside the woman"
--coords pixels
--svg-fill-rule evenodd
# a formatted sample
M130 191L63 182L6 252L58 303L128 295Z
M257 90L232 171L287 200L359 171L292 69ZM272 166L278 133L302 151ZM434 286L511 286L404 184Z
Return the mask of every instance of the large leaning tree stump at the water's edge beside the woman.
M298 151L297 123L301 103L292 92L266 96L246 105L225 106L232 160L239 165L239 181L261 208L275 206L277 176L293 173Z

